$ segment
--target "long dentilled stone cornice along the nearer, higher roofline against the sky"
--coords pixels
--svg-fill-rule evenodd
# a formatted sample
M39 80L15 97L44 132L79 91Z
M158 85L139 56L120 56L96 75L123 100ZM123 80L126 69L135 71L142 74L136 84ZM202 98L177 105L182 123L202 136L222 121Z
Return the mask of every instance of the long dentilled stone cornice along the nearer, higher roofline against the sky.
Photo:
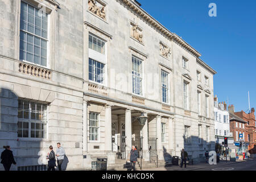
M151 26L155 27L156 30L161 32L164 36L166 36L170 40L174 40L176 43L180 44L181 47L184 47L187 49L187 51L191 52L192 55L196 57L200 57L201 54L196 51L195 48L190 46L187 42L185 42L180 36L172 33L170 30L168 30L166 27L164 27L162 24L160 24L156 19L154 19L151 15L149 15L146 11L144 11L141 7L139 7L137 4L130 0L118 0L122 3L124 3L126 6L128 6L131 10L134 11L134 13L137 13L139 16L141 16L142 19L146 20L147 23L151 24Z

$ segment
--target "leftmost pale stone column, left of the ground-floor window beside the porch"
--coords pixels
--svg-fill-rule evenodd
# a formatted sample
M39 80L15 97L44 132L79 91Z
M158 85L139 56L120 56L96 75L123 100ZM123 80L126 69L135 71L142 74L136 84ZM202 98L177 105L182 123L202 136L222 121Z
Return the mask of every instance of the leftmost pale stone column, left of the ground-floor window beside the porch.
M82 103L82 152L87 152L87 101Z

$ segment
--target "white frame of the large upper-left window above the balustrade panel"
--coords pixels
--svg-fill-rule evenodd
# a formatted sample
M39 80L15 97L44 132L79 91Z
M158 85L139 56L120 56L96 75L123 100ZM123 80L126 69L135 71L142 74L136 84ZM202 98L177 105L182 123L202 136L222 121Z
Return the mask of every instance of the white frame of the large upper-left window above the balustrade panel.
M20 1L20 7L19 7L19 9L20 9L20 14L19 14L19 17L20 17L20 22L22 21L22 18L21 18L21 4L22 4L22 2L23 3L25 3L25 4L27 4L27 24L28 24L28 6L31 6L31 7L34 7L34 15L35 15L35 9L39 9L38 7L36 7L35 5L32 5L31 3L29 3L29 2L27 2L27 1ZM28 64L34 64L34 65L39 65L40 67L43 67L43 68L48 68L49 67L49 38L50 38L50 36L49 36L49 34L50 34L50 32L49 32L49 30L50 30L50 19L51 19L51 15L50 14L48 14L48 13L46 13L47 14L47 38L43 38L42 37L42 35L41 36L39 36L39 35L36 35L36 34L33 34L33 33L31 33L31 32L28 32L27 30L23 30L21 27L20 27L20 22L19 22L19 60L20 61L23 61L24 63L28 63ZM41 31L42 31L42 19L41 19ZM25 34L26 34L26 57L27 57L27 34L30 34L30 35L32 35L33 36L33 44L32 44L32 46L33 46L33 53L32 53L32 55L33 55L33 62L31 62L31 61L27 61L27 59L26 60L24 60L24 59L21 59L20 58L20 32L24 32ZM35 32L35 18L34 18L34 32ZM37 63L34 63L34 47L35 47L35 37L36 38L39 38L40 39L40 50L39 50L39 57L40 57L40 63L41 63L41 45L42 45L42 40L45 40L46 41L46 65L41 65L41 64L37 64ZM36 47L38 47L38 46L36 46Z

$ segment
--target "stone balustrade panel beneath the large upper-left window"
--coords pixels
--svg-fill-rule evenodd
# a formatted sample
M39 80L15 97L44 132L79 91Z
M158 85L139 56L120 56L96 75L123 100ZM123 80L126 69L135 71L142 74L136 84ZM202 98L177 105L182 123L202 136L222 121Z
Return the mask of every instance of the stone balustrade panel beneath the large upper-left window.
M19 63L19 72L35 77L46 78L48 80L50 80L52 76L51 71L48 69L27 63Z

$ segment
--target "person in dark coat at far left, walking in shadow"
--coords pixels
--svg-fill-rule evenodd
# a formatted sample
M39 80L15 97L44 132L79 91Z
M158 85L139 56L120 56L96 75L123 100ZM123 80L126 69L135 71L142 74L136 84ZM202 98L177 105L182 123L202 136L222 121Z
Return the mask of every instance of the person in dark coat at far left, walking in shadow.
M16 165L13 156L13 151L11 151L10 146L3 146L3 148L5 148L5 150L1 154L1 164L3 164L5 171L10 171L11 164Z

